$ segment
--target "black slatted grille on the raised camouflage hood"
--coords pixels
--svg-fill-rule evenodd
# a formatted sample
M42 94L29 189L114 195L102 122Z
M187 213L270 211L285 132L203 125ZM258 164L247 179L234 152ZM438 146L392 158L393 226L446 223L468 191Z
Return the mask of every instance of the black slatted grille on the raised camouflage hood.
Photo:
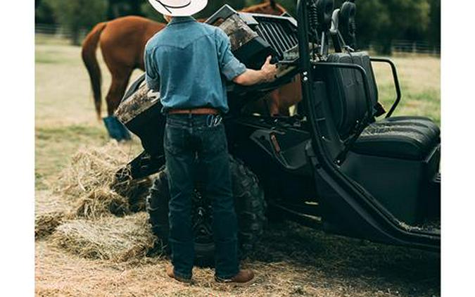
M254 18L258 21L258 25L254 28L255 32L279 53L279 58L298 44L297 34L288 22L260 16Z

